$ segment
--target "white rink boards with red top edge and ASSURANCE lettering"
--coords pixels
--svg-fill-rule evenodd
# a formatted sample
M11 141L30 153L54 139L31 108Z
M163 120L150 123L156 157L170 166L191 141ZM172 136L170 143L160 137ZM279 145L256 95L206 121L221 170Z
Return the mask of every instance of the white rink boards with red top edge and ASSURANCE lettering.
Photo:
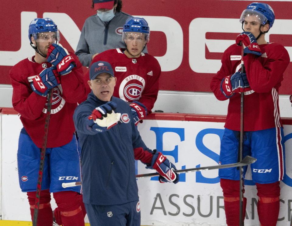
M162 151L177 169L216 165L225 116L155 113L138 128L151 149ZM292 119L285 118L286 175L280 183L281 202L277 226L290 225L292 207ZM16 153L22 124L15 111L2 108L1 117L1 224L30 221L26 194L19 189ZM137 174L150 173L138 162ZM246 226L259 225L256 189L250 169L245 178ZM224 225L223 194L218 170L180 174L178 184L160 184L157 178L137 180L142 225ZM52 207L55 203L52 202ZM86 222L88 219L86 217ZM24 223L24 222L23 222ZM9 224L5 224L9 225ZM20 225L20 224L19 224ZM22 224L23 225L23 224ZM29 224L27 224L29 225Z

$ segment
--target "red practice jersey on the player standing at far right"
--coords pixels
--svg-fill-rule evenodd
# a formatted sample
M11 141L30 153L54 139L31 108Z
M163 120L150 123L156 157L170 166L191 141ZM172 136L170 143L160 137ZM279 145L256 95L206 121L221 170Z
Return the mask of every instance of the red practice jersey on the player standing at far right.
M259 45L261 56L247 54L243 57L246 76L251 91L244 95L244 131L256 131L281 127L278 91L283 73L290 58L280 44ZM225 76L241 69L241 46L231 45L225 50L222 66L211 81L211 90L220 101L227 100L221 92L221 81ZM225 128L240 131L240 93L229 98Z

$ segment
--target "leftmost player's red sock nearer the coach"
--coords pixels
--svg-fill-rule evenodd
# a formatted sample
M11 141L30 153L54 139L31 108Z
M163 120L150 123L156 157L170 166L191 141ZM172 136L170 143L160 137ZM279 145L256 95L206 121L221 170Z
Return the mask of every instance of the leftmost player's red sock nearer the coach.
M54 199L61 213L63 226L84 226L84 214L82 195L73 191L54 192ZM57 222L57 221L56 221Z

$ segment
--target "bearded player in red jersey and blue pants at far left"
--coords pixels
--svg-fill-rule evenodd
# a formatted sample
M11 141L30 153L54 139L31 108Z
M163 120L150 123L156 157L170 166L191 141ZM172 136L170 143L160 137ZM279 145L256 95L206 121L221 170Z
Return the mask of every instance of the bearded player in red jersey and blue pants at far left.
M57 223L82 226L85 208L80 188L61 186L64 181L81 179L80 150L72 116L77 102L85 95L82 65L73 53L57 44L59 32L50 18L33 19L29 25L29 40L35 55L20 61L9 72L12 105L23 124L17 153L20 188L27 192L33 219L47 93L53 89L37 225L53 224L50 206L50 192L53 192Z

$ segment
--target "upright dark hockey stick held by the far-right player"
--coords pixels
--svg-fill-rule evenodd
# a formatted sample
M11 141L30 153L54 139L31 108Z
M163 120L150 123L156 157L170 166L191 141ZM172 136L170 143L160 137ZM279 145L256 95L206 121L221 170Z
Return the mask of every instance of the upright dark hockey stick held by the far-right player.
M243 63L243 43L241 47L241 72L245 73L244 63ZM238 145L238 156L239 161L242 160L242 148L243 148L243 104L244 104L244 91L240 94L240 136L239 136L239 145ZM239 166L239 226L243 226L242 217L242 208L243 208L243 168Z

